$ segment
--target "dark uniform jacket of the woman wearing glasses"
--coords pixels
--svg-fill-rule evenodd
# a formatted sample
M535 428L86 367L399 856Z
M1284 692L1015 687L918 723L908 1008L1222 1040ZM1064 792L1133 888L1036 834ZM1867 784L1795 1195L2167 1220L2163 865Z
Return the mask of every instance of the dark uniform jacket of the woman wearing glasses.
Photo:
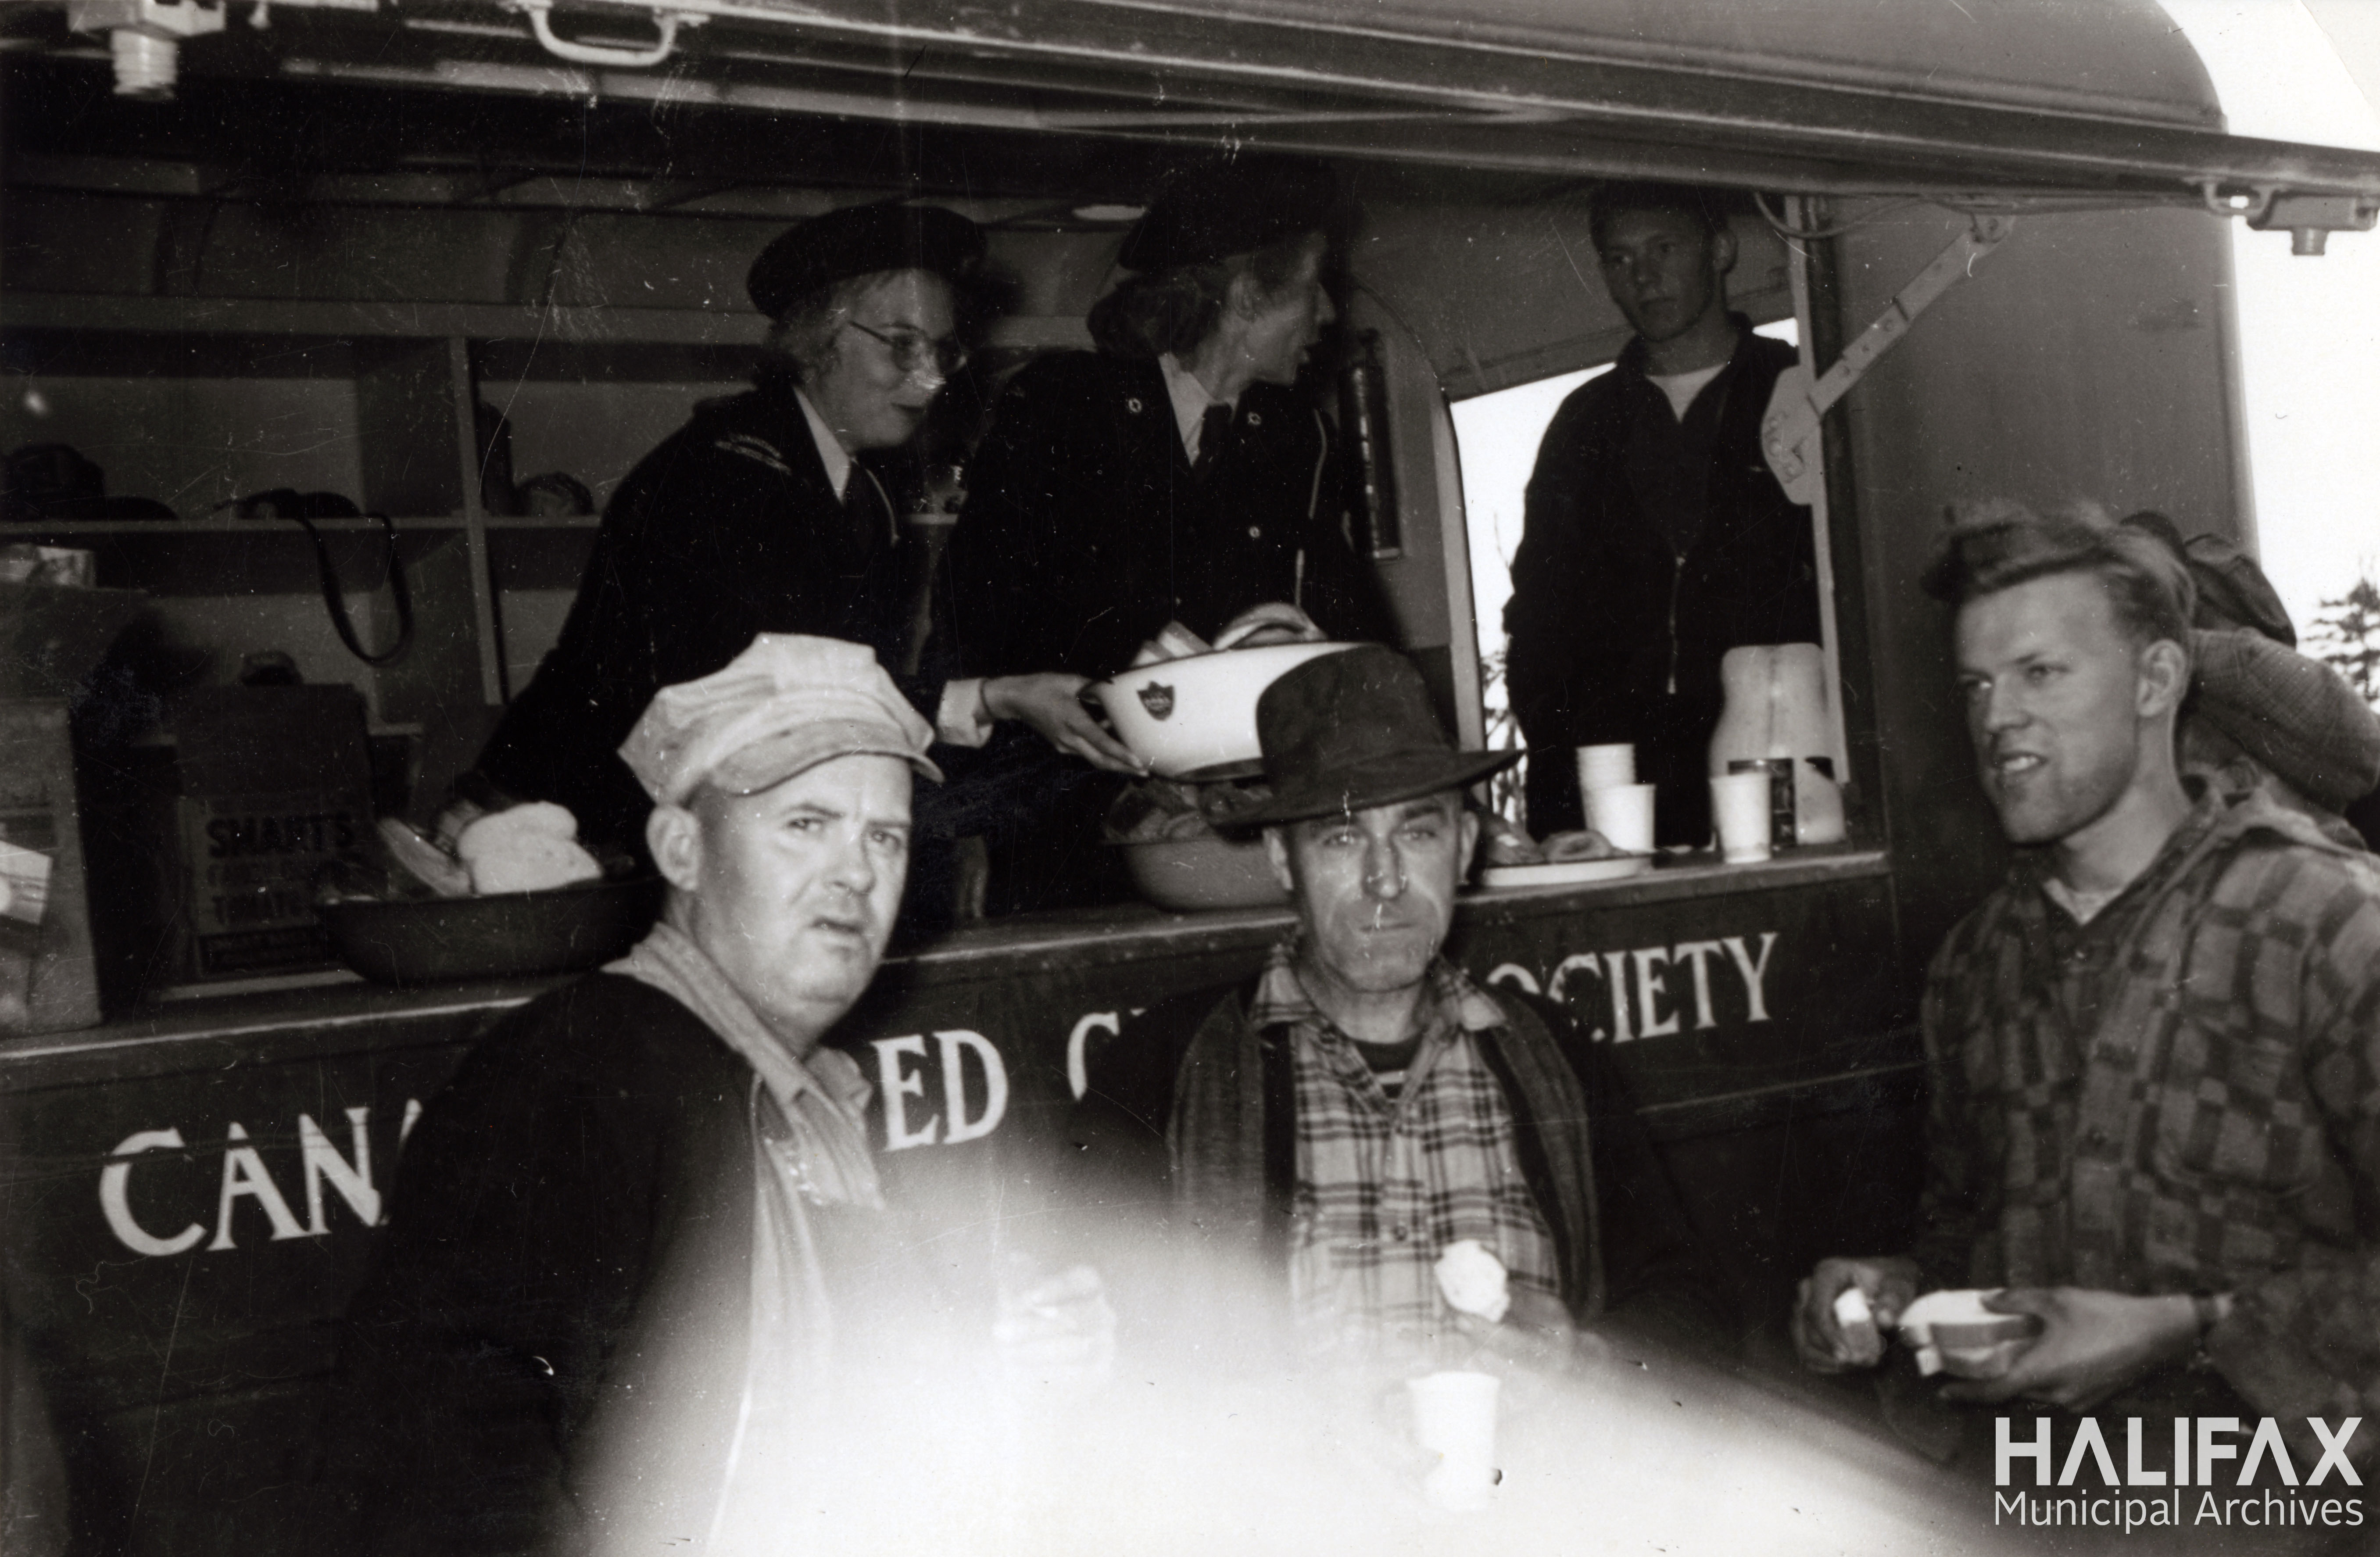
M852 481L873 495L864 471ZM643 852L652 802L619 743L659 688L709 676L754 633L850 638L900 667L902 559L885 505L869 512L835 498L790 383L700 407L612 495L562 640L478 771ZM940 688L904 690L933 719Z

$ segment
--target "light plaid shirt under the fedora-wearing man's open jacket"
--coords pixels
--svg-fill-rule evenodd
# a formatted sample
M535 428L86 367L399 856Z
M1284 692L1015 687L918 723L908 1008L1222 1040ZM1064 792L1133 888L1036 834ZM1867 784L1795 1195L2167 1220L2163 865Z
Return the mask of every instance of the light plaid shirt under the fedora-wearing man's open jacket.
M1314 1350L1373 1350L1438 1331L1452 1312L1438 1255L1476 1238L1511 1290L1561 1295L1561 1262L1521 1176L1511 1107L1471 1033L1504 1012L1449 962L1430 964L1421 1045L1390 1100L1354 1040L1307 998L1297 943L1273 948L1250 1002L1288 1026L1297 1086L1290 1309Z

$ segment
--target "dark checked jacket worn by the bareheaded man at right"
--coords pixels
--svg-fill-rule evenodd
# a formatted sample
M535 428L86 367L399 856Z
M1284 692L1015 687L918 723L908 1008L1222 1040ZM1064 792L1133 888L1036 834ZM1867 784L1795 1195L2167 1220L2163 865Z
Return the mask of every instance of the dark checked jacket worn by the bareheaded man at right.
M2251 1405L2380 1414L2380 862L2259 793L2090 924L2044 869L1928 974L1928 1281L2228 1290Z

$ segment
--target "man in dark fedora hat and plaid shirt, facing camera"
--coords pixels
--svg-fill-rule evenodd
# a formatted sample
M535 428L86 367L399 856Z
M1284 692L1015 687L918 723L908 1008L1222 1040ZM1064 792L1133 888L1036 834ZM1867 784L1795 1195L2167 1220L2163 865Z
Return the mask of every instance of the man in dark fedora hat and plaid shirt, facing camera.
M1511 755L1457 750L1385 648L1292 669L1257 729L1273 798L1245 824L1297 931L1126 1026L1073 1119L1073 1198L1140 1240L1104 1255L1119 1309L1195 1293L1228 1307L1190 1317L1197 1345L1395 1357L1457 1326L1438 1267L1476 1243L1507 1324L1557 1352L1618 1302L1706 1331L1723 1300L1602 1057L1440 955L1478 843L1464 786Z

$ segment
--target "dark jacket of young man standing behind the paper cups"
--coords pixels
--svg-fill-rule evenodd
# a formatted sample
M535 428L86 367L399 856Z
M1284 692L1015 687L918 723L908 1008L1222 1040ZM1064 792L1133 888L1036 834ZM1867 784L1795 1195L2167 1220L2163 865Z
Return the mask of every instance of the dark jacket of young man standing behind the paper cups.
M1540 838L1583 824L1573 748L1633 740L1637 781L1661 786L1661 843L1704 843L1721 657L1818 643L1811 514L1759 436L1795 350L1735 326L1735 357L1683 424L1630 340L1545 429L1504 607L1511 709L1542 750L1528 769Z

